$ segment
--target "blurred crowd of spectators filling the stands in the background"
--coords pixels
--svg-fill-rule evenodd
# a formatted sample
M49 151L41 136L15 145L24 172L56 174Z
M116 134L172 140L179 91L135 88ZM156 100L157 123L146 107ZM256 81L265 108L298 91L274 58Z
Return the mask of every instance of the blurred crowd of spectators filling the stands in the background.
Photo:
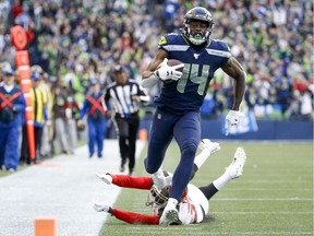
M31 66L43 75L51 97L48 119L53 119L55 94L60 90L75 103L75 118L90 80L105 88L118 63L140 82L160 36L179 32L184 14L195 5L212 12L212 38L227 42L247 72L244 108L257 119L313 120L313 2L309 0L1 1L0 63L16 69L10 30L23 26ZM231 107L230 83L222 71L216 72L202 107L205 118L220 118ZM154 97L158 90L147 93ZM142 118L153 107L144 109Z

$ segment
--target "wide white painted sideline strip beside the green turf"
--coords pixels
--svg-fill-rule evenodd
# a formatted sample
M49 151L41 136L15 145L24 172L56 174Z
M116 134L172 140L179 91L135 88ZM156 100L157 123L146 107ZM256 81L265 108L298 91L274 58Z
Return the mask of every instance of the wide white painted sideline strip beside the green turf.
M136 157L144 145L136 143ZM37 217L56 219L60 236L98 235L108 214L95 212L93 199L114 204L121 190L96 177L96 173L119 173L118 141L105 140L102 154L101 160L89 160L84 145L74 155L55 156L0 178L0 236L35 235Z

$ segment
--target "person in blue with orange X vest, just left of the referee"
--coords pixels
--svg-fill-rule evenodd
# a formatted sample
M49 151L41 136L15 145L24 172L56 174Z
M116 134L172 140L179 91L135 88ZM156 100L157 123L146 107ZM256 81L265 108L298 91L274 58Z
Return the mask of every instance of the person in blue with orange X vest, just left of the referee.
M77 127L84 126L83 118L86 114L89 157L93 157L95 144L97 144L97 156L101 158L107 129L107 116L104 93L100 91L100 83L98 80L90 80L89 92L85 96L83 108L80 113L80 119L77 120Z

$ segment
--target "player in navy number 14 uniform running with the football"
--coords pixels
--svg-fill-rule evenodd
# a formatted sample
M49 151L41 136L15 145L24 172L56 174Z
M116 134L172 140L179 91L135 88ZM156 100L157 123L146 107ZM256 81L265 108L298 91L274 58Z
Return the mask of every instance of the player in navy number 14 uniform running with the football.
M152 87L164 82L149 132L146 172L159 178L158 170L169 143L174 137L181 152L173 175L173 186L168 204L159 224L167 226L178 219L176 209L192 175L193 160L201 140L200 107L217 69L221 68L234 79L234 102L226 117L226 133L235 126L242 113L240 104L245 92L246 74L242 66L231 56L222 40L209 36L214 27L212 14L201 7L188 11L183 28L179 34L168 34L159 40L159 50L143 72L142 86ZM182 64L168 66L168 59ZM178 69L184 67L183 71ZM164 180L162 180L164 181Z

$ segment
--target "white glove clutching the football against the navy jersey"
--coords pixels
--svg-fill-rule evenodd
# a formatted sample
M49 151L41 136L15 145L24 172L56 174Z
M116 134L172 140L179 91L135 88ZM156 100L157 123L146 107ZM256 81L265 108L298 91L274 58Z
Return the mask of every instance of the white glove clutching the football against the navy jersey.
M156 75L161 81L167 81L167 80L178 81L182 76L183 73L181 71L178 71L177 69L184 68L184 63L170 67L167 64L167 61L168 59L165 58L164 61L160 63L159 69L156 70Z

